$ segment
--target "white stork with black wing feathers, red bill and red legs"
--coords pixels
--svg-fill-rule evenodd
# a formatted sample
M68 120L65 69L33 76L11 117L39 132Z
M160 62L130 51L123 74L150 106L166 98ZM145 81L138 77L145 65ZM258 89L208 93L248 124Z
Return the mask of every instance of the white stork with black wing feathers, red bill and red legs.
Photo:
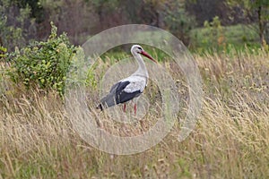
M134 99L134 115L136 115L137 100L143 93L149 79L149 73L143 62L142 55L149 58L154 63L157 63L157 61L139 45L132 46L131 53L138 64L138 69L129 77L117 81L112 85L108 94L100 99L100 104L97 108L101 111L103 111L104 108L124 104L123 110L126 112L126 102Z

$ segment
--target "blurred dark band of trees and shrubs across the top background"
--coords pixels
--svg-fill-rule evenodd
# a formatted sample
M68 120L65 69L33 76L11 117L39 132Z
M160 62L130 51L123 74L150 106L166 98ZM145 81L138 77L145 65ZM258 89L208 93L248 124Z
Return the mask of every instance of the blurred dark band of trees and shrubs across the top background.
M195 34L191 31L203 28L204 21L211 24L215 20L211 26L217 29L235 24L244 26L238 34L245 40L241 43L242 47L248 41L265 47L269 42L268 7L266 0L2 0L0 44L12 51L13 47L25 46L32 39L45 39L50 32L50 21L54 21L59 34L66 32L74 45L80 45L89 36L110 27L144 23L169 30L195 49L200 39L194 38ZM221 36L224 42L228 38L226 43L221 41L222 46L230 44L226 34L233 30L226 28L226 31L213 34ZM256 36L247 39L246 31ZM208 47L215 46L204 45L204 48Z

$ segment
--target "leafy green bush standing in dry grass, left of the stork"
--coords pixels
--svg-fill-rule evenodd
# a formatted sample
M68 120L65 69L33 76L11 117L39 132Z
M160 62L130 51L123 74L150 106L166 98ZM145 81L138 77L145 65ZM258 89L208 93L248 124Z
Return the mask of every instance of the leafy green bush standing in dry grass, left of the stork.
M66 72L76 47L72 46L66 34L56 35L57 28L51 23L51 34L47 41L36 41L7 56L12 64L8 72L15 82L22 82L27 88L38 86L42 90L65 90Z

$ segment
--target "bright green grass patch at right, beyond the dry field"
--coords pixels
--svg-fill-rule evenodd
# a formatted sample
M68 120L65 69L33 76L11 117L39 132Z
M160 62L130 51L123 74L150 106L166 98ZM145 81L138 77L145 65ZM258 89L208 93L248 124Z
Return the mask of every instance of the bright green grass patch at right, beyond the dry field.
M213 35L209 28L198 28L190 33L190 47L192 51L201 53L208 51L225 51L230 49L244 50L246 47L257 49L260 47L259 36L255 26L238 24L233 26L223 26L221 32ZM221 43L218 42L218 38Z

